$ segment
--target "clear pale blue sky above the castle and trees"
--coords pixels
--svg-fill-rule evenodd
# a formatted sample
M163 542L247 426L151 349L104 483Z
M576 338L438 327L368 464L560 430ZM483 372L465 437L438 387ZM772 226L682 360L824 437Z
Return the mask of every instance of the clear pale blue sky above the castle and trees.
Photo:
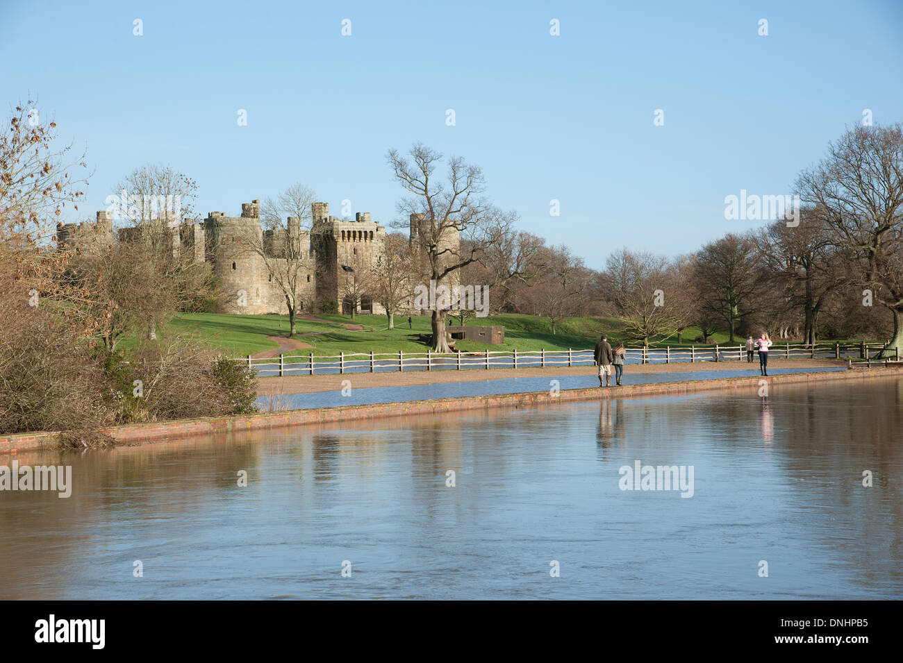
M760 226L725 220L725 196L789 193L865 108L903 121L899 1L205 5L0 0L0 110L37 96L87 145L82 211L161 162L204 215L302 181L385 224L386 150L421 141L598 269Z

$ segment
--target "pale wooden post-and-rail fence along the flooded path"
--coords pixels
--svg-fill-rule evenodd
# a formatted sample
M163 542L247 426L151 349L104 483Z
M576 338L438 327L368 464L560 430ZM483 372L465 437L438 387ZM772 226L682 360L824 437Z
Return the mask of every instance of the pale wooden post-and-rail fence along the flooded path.
M785 359L841 359L857 355L867 362L883 349L883 345L816 343L774 344L769 355ZM679 362L729 362L746 359L744 345L703 345L696 347L666 346L664 348L628 347L625 364L672 364ZM885 357L889 359L889 357ZM377 373L404 371L463 371L491 368L546 368L555 366L585 366L594 364L592 350L502 350L488 352L424 353L344 353L314 356L278 355L272 359L247 361L250 369L273 375L313 375L314 373ZM892 361L899 361L894 350ZM883 362L883 360L882 360Z

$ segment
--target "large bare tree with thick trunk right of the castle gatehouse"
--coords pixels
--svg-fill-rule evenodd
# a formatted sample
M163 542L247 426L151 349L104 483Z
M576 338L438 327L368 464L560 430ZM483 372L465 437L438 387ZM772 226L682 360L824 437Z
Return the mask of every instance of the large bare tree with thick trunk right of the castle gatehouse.
M412 241L424 256L425 271L436 288L476 261L486 248L498 244L511 215L480 198L484 180L479 167L452 157L443 182L435 177L442 154L421 143L411 149L410 160L397 150L390 150L387 160L396 180L412 194L398 203L398 211L414 218ZM468 241L466 250L461 250L463 240ZM431 345L435 352L451 352L445 334L447 315L447 308L433 309Z

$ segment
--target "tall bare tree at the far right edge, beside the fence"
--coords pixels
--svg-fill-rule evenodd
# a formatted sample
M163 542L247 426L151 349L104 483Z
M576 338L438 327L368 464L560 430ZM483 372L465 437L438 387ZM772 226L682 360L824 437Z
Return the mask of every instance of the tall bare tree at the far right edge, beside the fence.
M890 310L888 347L903 345L903 124L848 130L796 188L839 235L852 257L852 281Z

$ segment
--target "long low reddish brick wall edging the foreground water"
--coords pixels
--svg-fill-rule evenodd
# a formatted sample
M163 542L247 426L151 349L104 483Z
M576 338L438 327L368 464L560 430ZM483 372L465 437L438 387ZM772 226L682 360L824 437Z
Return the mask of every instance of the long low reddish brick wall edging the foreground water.
M880 377L903 376L903 366L875 369L852 369L839 372L786 373L768 377L769 385L864 381ZM758 391L759 375L749 377L715 378L688 382L657 382L629 384L623 387L600 389L569 389L553 396L549 391L528 391L524 393L500 393L484 396L463 396L460 398L437 399L433 401L402 401L374 403L372 405L346 405L336 408L316 408L312 410L288 410L285 412L238 415L232 417L207 417L202 419L179 419L157 421L147 424L133 424L107 428L104 432L123 443L159 442L182 437L229 433L261 428L283 428L343 420L380 419L402 415L433 414L462 410L483 410L489 408L535 408L541 405L575 401L601 401L612 398L638 396L679 395L700 391ZM46 449L56 446L57 432L19 433L0 437L0 453Z

